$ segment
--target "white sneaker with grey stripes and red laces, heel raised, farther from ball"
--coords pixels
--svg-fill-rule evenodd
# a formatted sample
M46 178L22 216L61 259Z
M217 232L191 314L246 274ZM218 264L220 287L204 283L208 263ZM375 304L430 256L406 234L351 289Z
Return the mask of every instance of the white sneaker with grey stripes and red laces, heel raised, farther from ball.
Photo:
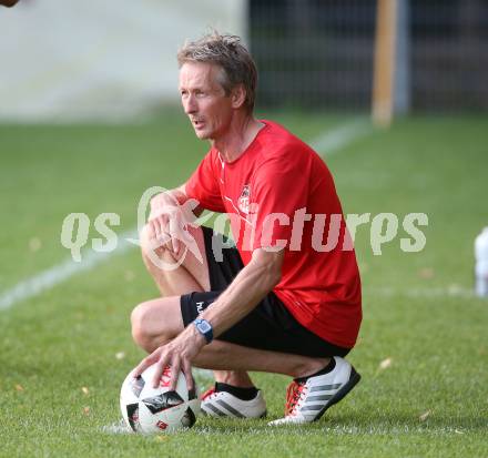
M316 421L355 387L360 375L345 359L334 359L336 366L331 373L292 381L286 393L285 418L271 421L270 426Z

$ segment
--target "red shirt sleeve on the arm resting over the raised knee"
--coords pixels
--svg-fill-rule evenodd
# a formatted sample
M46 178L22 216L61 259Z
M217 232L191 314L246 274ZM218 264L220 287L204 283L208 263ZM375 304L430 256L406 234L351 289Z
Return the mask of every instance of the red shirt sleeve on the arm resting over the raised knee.
M223 213L225 208L217 181L218 173L213 163L214 159L211 150L186 182L185 191L186 195L199 201L202 207Z

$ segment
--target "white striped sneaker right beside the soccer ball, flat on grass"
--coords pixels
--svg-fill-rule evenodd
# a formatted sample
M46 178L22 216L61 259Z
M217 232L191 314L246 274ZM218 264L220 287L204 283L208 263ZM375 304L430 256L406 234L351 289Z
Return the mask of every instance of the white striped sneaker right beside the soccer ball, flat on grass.
M266 403L261 390L254 399L242 400L227 391L209 389L202 395L202 413L211 417L262 418L266 416Z

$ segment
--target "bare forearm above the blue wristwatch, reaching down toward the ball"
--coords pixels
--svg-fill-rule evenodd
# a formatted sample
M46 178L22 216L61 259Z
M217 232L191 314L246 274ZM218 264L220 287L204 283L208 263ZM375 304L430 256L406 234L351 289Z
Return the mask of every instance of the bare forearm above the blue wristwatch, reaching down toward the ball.
M253 259L202 315L218 336L244 318L281 278L275 266Z

